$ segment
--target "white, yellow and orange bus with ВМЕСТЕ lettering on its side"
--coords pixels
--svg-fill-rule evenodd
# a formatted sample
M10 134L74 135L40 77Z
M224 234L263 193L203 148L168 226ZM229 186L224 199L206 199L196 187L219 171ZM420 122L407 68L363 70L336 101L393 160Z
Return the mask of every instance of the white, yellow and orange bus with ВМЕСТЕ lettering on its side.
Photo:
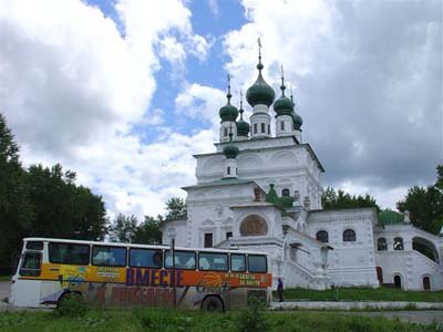
M224 311L270 301L264 253L25 238L10 302L54 308L69 297L104 305Z

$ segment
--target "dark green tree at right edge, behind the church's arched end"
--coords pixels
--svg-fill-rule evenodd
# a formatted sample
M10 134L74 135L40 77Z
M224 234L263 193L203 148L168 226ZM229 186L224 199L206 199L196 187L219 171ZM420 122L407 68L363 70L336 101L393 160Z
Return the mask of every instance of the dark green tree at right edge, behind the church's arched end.
M396 208L410 212L411 222L423 230L439 234L443 226L443 164L436 166L436 181L432 186L409 188Z

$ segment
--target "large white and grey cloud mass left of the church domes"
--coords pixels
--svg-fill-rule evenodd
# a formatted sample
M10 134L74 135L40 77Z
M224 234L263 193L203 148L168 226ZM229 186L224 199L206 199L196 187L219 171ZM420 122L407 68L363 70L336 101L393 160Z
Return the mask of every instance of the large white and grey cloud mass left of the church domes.
M212 133L155 127L156 143L146 144L132 125L164 123L164 111L150 106L159 58L204 60L210 43L194 33L182 1L122 0L116 10L123 35L81 1L0 1L0 110L25 164L61 162L111 214L141 217L184 195L192 154Z

